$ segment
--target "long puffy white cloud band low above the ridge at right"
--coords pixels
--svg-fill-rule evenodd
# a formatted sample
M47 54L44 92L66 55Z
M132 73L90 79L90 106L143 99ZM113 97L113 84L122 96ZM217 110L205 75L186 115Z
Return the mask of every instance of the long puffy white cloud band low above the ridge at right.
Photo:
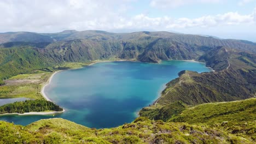
M255 13L254 13L255 15ZM189 19L187 17L172 19L171 17L148 17L140 14L132 17L129 21L130 25L125 25L124 28L148 28L156 30L174 29L174 28L190 28L190 27L217 27L226 25L241 25L249 24L253 25L253 14L240 15L238 13L229 12L219 15L208 15L198 17L196 19Z

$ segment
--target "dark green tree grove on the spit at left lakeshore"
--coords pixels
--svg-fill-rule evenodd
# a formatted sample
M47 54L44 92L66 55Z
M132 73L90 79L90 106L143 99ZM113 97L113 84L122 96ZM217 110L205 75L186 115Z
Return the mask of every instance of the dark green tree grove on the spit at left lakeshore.
M51 101L46 100L25 100L13 104L0 106L0 114L3 113L24 113L40 111L62 111L63 109Z

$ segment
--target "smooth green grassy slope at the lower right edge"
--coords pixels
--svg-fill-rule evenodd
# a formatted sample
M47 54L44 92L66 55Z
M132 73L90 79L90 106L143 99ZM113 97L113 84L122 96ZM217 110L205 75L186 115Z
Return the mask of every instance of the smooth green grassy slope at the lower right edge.
M251 137L255 141L256 98L197 105L168 121L207 124L237 136Z

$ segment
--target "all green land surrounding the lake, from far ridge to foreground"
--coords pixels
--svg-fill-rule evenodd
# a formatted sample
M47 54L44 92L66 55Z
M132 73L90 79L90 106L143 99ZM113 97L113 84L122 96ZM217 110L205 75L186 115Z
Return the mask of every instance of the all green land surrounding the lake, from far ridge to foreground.
M249 41L168 32L63 31L1 33L0 43L0 98L35 99L2 106L3 113L62 110L43 100L40 89L53 71L93 61L196 59L216 70L179 73L154 105L140 111L152 120L139 117L98 130L60 118L26 127L1 121L0 143L255 143L256 45ZM212 103L219 101L233 102Z

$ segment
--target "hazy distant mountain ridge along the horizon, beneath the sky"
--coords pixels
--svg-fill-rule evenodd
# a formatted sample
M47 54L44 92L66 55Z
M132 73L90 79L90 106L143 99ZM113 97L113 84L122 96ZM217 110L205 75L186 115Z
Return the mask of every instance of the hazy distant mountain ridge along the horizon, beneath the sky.
M219 39L216 37L206 37L193 34L181 34L171 32L134 32L134 33L109 33L106 31L75 31L67 30L60 33L31 33L31 32L7 32L0 33L0 44L14 41L24 42L53 42L75 39L89 40L119 40L129 41L138 38L163 38L178 43L186 43L197 46L225 46L237 50L247 50L256 52L255 43L246 40Z

